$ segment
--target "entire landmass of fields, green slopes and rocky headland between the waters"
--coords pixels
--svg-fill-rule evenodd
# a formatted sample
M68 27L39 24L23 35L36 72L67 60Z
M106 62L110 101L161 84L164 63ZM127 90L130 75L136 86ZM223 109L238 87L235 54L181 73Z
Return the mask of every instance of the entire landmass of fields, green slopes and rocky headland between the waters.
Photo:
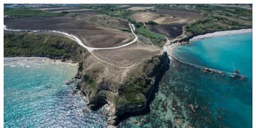
M4 57L78 62L75 92L92 110L109 105L108 123L118 125L148 109L169 67L167 45L252 28L252 11L210 4L6 5L4 25Z

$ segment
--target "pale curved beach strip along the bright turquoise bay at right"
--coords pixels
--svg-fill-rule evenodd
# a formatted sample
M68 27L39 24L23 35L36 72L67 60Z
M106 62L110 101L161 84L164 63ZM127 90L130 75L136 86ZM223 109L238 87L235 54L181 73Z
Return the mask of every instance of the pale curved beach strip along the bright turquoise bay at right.
M217 32L213 32L213 33L206 33L205 35L195 36L195 37L190 39L190 42L191 41L197 41L199 39L204 39L204 38L211 38L211 37L218 37L218 36L228 36L228 35L234 35L234 34L240 34L240 33L248 33L248 32L252 32L252 29L217 31Z

